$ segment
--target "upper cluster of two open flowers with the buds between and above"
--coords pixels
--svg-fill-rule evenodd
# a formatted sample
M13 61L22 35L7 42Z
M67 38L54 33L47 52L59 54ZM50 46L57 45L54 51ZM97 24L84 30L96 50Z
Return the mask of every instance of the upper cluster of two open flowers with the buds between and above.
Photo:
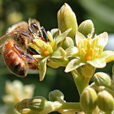
M34 42L29 44L39 53L33 57L39 61L40 80L45 77L46 65L52 68L63 66L65 72L90 66L89 70L94 69L94 73L96 68L103 68L107 62L114 60L113 51L103 51L108 42L107 32L94 34L91 20L83 21L78 26L75 13L66 3L58 11L57 17L58 29L47 31L48 41L36 36Z

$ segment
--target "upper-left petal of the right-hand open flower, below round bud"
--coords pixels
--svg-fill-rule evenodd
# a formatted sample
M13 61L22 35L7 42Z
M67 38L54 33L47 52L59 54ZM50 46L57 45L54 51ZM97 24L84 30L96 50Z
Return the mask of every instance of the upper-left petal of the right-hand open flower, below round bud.
M86 37L80 33L80 32L76 32L76 45L79 46L79 44L81 45L81 47L84 46L84 40L86 40Z

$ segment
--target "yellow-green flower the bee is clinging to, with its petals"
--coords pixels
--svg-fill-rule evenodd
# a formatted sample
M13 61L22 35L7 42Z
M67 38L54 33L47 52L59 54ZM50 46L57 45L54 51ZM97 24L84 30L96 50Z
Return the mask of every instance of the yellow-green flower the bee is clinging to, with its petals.
M33 57L38 60L40 81L45 77L47 65L52 68L67 65L68 59L65 58L66 52L62 48L62 43L70 31L71 29L68 29L61 33L59 29L52 29L45 35L35 35L33 43L29 44L30 48L38 53Z

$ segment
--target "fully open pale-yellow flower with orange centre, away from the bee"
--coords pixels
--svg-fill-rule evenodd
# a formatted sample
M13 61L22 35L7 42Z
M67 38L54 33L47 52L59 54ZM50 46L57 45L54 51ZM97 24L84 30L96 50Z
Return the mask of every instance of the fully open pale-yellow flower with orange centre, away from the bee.
M73 71L80 66L90 64L94 68L103 68L107 62L114 60L114 51L103 51L108 42L108 34L106 32L91 37L85 37L82 33L76 33L76 50L75 58L66 66L65 72ZM74 49L74 48L73 48Z

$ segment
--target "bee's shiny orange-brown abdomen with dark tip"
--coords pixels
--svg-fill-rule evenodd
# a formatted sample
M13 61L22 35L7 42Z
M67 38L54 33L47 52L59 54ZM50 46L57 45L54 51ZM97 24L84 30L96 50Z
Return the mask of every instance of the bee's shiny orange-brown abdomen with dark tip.
M27 63L26 60L14 47L14 41L8 41L3 50L3 56L8 68L20 77L27 75Z

